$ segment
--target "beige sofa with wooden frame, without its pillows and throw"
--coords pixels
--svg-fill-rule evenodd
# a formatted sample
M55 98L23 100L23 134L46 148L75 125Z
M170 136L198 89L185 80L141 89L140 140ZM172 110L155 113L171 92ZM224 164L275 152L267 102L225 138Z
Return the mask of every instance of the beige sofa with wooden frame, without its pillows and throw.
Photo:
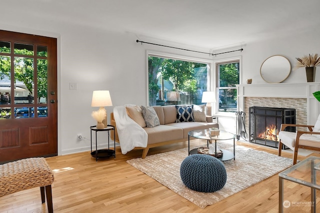
M174 105L170 106L152 106L155 110L160 125L155 127L144 127L143 129L147 133L147 146L135 147L134 149L142 149L142 158L145 158L149 148L163 146L167 144L173 144L188 140L188 132L192 130L208 129L211 127L218 128L217 123L212 123L211 116L205 116L206 122L178 122L176 123L176 108ZM195 113L195 112L194 112ZM204 114L204 111L202 112ZM203 115L202 115L203 120ZM113 113L110 114L110 124L115 126L115 141L119 142L119 138L116 131L116 122L114 120ZM113 134L111 134L113 139ZM194 138L193 138L194 139Z

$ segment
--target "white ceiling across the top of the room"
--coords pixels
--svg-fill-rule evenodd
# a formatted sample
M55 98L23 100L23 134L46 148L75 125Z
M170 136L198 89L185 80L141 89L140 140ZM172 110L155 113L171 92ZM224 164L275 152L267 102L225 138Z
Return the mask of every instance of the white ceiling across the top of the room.
M320 26L320 0L5 1L1 4L15 14L38 21L72 22L207 49L310 29L319 33Z

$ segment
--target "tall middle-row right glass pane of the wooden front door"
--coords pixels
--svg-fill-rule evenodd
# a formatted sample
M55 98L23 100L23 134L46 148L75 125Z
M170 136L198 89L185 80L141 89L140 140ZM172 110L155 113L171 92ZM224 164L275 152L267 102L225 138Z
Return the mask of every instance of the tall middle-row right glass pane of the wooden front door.
M37 59L37 103L47 103L47 60Z

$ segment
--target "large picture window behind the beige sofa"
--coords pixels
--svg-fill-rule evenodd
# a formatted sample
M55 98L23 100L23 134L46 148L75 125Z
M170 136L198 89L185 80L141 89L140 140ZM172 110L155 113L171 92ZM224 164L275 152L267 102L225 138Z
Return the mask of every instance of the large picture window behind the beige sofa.
M148 54L148 104L201 104L209 62Z

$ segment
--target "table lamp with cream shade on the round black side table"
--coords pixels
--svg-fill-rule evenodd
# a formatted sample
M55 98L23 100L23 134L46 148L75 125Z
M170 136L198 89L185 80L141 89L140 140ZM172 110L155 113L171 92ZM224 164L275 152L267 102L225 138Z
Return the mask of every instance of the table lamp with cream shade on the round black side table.
M99 107L98 111L102 110L105 113L105 119L102 120L104 128L107 126L105 106L112 106L110 93L108 90L96 90L92 93L91 107Z

